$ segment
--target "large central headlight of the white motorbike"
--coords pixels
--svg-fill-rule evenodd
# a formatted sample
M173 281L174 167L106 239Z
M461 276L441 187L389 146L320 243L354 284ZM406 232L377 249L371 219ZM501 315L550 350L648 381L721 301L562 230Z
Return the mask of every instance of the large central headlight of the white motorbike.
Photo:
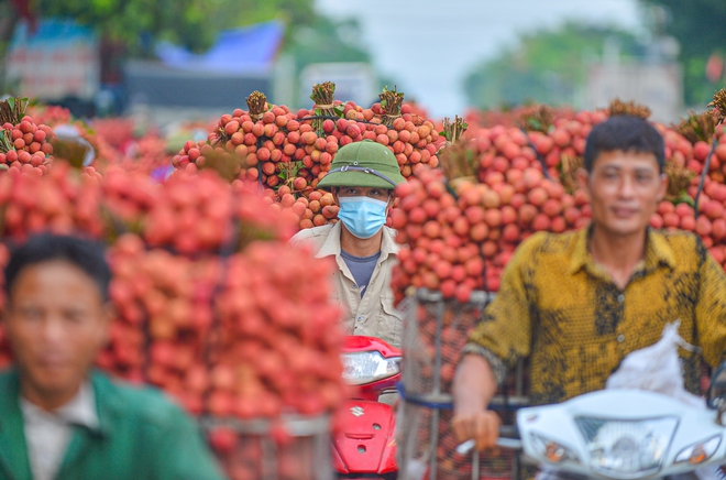
M580 417L593 469L629 477L660 468L678 427L678 418L614 421Z

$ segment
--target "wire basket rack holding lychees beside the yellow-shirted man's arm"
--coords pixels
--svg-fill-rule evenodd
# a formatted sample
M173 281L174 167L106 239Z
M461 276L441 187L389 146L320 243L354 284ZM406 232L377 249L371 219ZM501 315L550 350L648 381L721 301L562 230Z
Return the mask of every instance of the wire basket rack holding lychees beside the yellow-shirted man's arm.
M461 457L454 454L457 441L450 429L452 371L459 360L452 349L463 348L484 307L494 298L494 293L476 291L472 292L470 302L461 304L444 299L436 291L407 292L400 306L405 326L403 385L399 385L399 478L420 479L422 474L429 480L517 478L519 465L513 451L503 452L502 457L480 457L477 452ZM509 372L507 388L491 403L509 429L515 412L529 405L525 373L525 362L520 361Z

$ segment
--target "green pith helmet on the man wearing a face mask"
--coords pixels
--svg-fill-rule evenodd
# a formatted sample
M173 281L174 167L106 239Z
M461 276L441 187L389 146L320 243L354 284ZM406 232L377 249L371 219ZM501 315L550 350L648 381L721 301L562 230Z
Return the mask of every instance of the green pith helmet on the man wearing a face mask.
M406 182L396 155L371 140L349 143L338 151L330 172L318 187L375 187L393 189Z

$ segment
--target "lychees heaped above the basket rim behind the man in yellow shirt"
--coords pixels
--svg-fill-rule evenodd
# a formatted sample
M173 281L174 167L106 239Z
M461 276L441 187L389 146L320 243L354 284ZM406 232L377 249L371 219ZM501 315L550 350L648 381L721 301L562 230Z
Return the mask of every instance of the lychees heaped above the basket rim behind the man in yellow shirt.
M723 126L717 126L723 120L718 99L726 96L722 99L717 95L711 112L692 116L678 131L657 126L666 140L670 189L651 226L696 232L723 264L726 225L721 217L726 190L718 182L719 156L711 155L711 175L704 177L703 190L698 190L698 173L715 143L708 145L695 134L688 140L689 129L712 142L724 138ZM417 171L416 179L399 187L402 208L393 212L399 241L408 246L399 255L400 266L394 276L397 297L403 298L410 285L440 290L444 297L461 302L471 290L495 292L502 270L529 234L585 226L588 198L575 182L585 139L594 124L620 113L645 118L649 110L619 100L607 110L576 112L571 118L558 117L547 107L531 108L521 119L524 129L466 131L462 140L440 154L442 173ZM462 251L465 253L457 254ZM484 277L481 260L485 260ZM462 264L466 261L469 268Z

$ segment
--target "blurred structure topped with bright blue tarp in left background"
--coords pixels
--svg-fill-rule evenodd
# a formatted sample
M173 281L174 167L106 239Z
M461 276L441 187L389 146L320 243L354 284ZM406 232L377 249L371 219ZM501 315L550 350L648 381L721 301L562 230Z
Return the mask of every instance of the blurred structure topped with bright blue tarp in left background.
M284 34L284 24L275 21L229 30L204 54L160 43L157 61L124 65L128 112L145 111L165 124L245 108L251 92L272 90Z

